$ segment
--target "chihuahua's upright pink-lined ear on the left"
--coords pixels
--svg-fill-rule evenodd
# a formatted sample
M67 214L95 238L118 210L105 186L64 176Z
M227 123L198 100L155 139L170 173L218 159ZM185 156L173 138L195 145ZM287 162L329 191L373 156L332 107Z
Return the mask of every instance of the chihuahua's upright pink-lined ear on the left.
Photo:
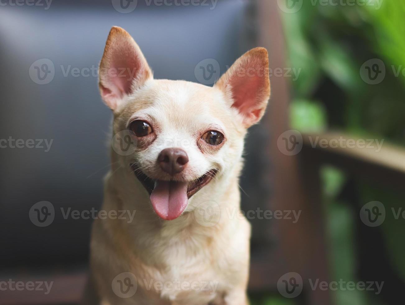
M153 77L134 39L126 30L117 26L111 28L108 35L99 75L101 97L113 110L128 94Z

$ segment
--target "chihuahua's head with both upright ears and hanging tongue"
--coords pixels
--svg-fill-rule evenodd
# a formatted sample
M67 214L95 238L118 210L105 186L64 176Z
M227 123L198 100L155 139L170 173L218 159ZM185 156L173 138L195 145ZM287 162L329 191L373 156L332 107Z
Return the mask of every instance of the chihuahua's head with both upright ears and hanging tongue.
M125 154L113 152L115 160L143 185L156 213L172 220L198 191L215 200L237 179L246 130L269 100L268 55L264 48L245 53L213 87L156 80L130 34L113 27L99 85L114 112L113 134L133 143Z

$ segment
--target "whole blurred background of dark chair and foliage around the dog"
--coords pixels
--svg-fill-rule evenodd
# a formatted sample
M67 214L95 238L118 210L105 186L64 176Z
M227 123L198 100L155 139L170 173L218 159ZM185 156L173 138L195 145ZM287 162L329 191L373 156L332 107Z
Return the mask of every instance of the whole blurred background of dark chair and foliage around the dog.
M100 209L109 170L97 67L111 26L156 78L213 85L269 50L241 177L252 305L399 304L404 17L402 0L1 0L0 304L79 302L92 219L72 211Z

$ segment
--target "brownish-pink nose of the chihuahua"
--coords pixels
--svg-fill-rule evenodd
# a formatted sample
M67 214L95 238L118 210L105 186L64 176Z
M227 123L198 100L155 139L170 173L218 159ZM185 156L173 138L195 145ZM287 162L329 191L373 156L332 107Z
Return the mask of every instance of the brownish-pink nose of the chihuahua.
M183 149L166 148L160 151L158 162L163 171L174 175L183 171L188 162L188 156Z

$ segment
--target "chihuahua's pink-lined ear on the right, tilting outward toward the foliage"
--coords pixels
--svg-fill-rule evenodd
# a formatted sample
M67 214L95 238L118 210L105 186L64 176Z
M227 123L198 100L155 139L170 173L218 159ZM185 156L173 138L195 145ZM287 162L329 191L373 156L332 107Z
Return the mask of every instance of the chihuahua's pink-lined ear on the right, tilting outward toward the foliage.
M236 60L215 84L238 109L246 128L259 122L270 97L269 56L255 48Z

